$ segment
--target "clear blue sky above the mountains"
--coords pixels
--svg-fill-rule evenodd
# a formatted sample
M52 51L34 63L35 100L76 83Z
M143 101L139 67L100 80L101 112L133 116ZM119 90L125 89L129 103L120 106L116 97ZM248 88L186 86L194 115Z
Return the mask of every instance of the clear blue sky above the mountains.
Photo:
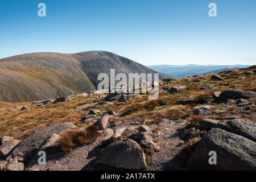
M144 65L256 64L255 9L255 0L0 0L0 58L104 50Z

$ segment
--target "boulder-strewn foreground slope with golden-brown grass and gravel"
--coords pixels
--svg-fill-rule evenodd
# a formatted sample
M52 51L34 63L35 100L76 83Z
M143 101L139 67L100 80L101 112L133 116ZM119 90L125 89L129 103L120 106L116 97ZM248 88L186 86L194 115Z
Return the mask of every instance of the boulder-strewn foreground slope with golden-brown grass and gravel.
M156 100L90 92L0 102L0 170L255 171L255 72L164 79Z

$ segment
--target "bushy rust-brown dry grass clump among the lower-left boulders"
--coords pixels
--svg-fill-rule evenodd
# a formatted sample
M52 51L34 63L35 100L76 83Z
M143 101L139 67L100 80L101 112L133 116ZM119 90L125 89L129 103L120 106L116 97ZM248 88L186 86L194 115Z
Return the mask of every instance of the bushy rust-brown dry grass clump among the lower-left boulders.
M60 134L59 146L64 154L72 151L72 148L92 143L98 138L98 127L90 125L85 129L67 130Z

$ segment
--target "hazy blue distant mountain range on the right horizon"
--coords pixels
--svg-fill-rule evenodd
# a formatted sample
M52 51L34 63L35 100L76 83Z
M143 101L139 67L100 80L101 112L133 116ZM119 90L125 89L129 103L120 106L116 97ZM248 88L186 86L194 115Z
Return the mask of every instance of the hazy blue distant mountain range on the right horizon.
M193 75L203 75L205 73L213 72L218 73L228 69L239 69L250 67L250 65L152 65L147 66L148 68L154 69L160 73L164 73L172 78L184 78Z

